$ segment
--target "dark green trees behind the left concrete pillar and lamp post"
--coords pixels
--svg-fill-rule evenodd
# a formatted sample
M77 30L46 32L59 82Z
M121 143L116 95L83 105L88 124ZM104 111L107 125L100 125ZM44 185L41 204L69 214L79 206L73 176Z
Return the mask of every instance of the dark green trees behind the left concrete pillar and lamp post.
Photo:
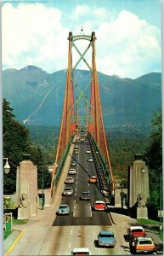
M11 167L9 174L3 174L3 193L13 194L16 191L16 169L22 161L23 154L31 154L31 160L37 166L45 166L46 158L40 148L31 142L29 131L14 119L13 108L3 99L3 158L8 158ZM5 164L5 160L4 163ZM45 171L47 187L50 184L48 168ZM38 188L42 188L42 171L38 170Z

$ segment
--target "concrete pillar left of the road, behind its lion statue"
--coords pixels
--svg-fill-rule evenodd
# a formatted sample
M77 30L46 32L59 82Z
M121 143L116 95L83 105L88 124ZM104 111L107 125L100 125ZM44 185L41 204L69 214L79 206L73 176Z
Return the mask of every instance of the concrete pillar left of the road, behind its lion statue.
M30 160L30 155L20 162L17 169L16 193L19 199L22 194L27 195L30 207L30 217L37 215L37 166Z

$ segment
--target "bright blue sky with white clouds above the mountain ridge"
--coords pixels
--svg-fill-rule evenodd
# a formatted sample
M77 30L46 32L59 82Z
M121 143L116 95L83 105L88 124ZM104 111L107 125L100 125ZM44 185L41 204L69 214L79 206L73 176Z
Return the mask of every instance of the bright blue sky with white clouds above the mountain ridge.
M95 32L100 73L136 79L161 72L161 0L3 1L3 69L66 69L69 32ZM80 41L82 53L88 42ZM72 57L75 65L76 50ZM88 69L82 63L77 68Z

